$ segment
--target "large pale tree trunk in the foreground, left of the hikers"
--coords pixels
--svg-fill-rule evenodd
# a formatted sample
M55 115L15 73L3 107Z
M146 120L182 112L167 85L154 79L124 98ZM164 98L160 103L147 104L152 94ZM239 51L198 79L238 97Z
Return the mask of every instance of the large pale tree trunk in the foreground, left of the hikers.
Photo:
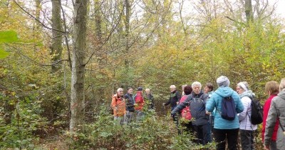
M71 133L81 129L85 114L85 53L86 53L86 17L88 0L74 1L73 11L73 50L71 69Z

